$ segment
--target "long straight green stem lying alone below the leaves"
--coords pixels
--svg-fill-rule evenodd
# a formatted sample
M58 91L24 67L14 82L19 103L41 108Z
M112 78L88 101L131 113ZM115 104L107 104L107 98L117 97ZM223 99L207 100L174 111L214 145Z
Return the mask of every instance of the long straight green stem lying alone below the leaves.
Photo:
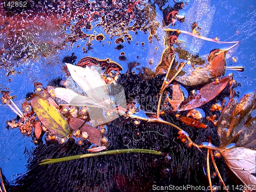
M88 158L88 157L97 157L102 155L114 155L114 154L122 154L122 153L148 153L148 154L155 154L155 155L164 155L166 156L166 153L158 152L155 150L145 150L140 148L127 148L124 150L111 150L111 151L105 151L100 153L90 153L90 154L83 154L83 155L74 155L70 157L62 157L58 159L44 159L41 161L39 165L45 165L45 164L52 164L52 163L59 163L63 161L71 161L75 159L82 159L82 158Z

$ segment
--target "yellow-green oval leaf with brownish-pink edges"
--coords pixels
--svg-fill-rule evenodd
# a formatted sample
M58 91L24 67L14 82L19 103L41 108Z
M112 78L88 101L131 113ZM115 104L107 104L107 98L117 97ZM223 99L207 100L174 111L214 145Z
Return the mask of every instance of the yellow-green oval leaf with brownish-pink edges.
M46 99L36 96L31 100L31 106L50 133L60 138L70 134L67 120Z

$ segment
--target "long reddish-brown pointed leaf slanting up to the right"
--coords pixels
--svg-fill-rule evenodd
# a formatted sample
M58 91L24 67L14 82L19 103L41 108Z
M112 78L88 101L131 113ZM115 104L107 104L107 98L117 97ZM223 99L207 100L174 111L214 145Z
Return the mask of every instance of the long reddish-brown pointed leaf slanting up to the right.
M181 106L182 108L179 111L186 111L195 108L199 108L200 106L204 105L205 103L211 101L216 96L218 96L229 84L232 80L232 75L228 75L227 77L223 77L217 83L216 81L206 84L199 90L199 94L188 103L185 103Z

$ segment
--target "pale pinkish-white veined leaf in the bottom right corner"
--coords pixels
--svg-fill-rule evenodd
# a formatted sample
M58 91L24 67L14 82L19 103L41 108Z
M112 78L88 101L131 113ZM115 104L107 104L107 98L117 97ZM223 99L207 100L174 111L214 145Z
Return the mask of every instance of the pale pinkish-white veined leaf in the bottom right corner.
M228 167L245 184L256 184L256 151L237 147L221 152Z

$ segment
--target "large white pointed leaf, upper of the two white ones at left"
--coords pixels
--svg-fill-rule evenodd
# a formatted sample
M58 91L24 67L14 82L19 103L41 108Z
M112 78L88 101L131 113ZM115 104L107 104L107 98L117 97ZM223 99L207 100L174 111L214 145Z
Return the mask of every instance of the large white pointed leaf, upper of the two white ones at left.
M88 95L106 108L110 108L111 100L109 97L109 90L105 81L95 68L78 67L66 63L72 79L78 86Z

